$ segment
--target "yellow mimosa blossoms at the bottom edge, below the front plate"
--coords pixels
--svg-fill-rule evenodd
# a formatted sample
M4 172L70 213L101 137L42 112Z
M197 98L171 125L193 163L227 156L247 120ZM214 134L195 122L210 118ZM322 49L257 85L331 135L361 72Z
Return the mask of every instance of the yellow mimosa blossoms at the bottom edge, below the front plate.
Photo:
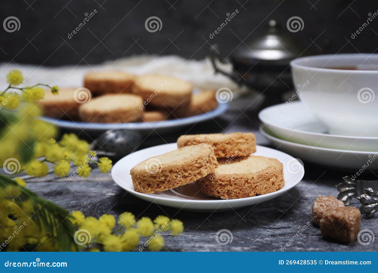
M178 236L184 230L180 220L160 215L152 222L148 217L135 220L132 213L124 212L116 219L113 215L104 214L99 219L85 217L80 211L73 211L73 224L78 231L76 241L83 251L132 251L139 246L139 251L159 251L164 247L161 234L170 232ZM142 239L143 244L139 245Z

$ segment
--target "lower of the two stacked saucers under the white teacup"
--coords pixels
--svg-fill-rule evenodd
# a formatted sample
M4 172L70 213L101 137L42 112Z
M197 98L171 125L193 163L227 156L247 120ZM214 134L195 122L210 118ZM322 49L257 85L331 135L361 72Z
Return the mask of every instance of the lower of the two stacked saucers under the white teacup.
M293 143L273 137L266 127L262 128L260 132L277 149L287 152L300 160L306 160L331 168L352 169L359 172L361 172L361 169L378 169L378 154L376 152L328 149Z

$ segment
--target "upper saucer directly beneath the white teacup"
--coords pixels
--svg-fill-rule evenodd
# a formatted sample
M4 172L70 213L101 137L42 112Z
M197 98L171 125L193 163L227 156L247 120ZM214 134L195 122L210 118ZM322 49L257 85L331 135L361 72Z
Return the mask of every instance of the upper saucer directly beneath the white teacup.
M330 149L378 151L378 138L328 134L319 118L301 101L267 107L259 119L270 135L294 143Z

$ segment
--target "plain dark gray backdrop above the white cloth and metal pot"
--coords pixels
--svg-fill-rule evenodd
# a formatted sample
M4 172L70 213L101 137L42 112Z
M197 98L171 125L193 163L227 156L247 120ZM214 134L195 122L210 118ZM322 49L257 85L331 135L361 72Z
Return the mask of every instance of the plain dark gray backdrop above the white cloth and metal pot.
M85 13L94 9L95 16L68 39ZM209 39L227 12L235 9L237 16ZM222 54L228 56L249 34L245 43L262 33L270 19L279 20L284 33L291 34L301 48L314 41L311 48L317 53L373 53L378 47L377 18L355 39L351 34L377 9L377 1L361 0L1 0L1 23L15 16L21 26L12 33L0 28L0 61L95 64L147 53L201 59L211 43L220 43ZM160 31L145 29L150 16L161 19ZM302 31L287 30L292 16L304 20Z

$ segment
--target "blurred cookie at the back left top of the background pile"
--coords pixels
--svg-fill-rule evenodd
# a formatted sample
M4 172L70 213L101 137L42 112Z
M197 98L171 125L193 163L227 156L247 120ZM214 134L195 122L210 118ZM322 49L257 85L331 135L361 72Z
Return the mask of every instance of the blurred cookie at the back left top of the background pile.
M84 76L84 87L94 95L131 93L136 75L122 71L93 71Z

